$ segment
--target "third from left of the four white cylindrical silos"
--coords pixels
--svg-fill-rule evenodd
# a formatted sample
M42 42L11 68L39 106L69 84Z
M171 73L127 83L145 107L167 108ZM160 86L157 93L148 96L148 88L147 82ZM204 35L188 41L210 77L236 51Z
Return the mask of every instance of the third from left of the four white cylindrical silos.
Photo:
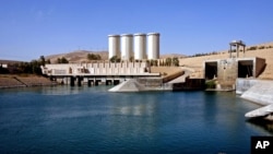
M133 51L134 51L134 59L136 60L142 60L145 59L145 55L146 55L146 34L134 34L133 35Z

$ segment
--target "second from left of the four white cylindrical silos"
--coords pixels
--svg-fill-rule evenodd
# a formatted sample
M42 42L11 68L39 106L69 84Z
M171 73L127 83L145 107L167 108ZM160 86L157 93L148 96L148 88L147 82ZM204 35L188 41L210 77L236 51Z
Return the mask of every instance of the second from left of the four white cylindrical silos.
M133 56L133 35L121 35L121 60L130 60Z

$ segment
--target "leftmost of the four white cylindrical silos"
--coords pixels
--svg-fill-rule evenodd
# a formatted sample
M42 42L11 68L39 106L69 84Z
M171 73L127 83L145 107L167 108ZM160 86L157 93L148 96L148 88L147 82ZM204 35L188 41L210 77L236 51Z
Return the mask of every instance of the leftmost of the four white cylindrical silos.
M120 36L108 35L108 58L111 59L114 56L120 57Z

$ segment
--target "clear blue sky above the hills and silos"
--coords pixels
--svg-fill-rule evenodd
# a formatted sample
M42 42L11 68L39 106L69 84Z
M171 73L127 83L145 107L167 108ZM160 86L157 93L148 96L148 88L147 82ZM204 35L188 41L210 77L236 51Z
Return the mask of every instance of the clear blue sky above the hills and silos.
M108 50L108 35L161 33L161 54L273 42L272 0L0 0L0 59Z

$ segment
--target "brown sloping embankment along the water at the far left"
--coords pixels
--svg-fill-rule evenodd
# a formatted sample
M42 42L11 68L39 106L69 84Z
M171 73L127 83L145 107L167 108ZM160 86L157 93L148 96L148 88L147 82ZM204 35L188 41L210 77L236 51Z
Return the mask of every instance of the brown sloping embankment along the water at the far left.
M54 85L47 78L37 75L1 75L0 88Z

